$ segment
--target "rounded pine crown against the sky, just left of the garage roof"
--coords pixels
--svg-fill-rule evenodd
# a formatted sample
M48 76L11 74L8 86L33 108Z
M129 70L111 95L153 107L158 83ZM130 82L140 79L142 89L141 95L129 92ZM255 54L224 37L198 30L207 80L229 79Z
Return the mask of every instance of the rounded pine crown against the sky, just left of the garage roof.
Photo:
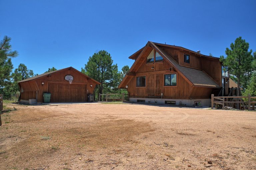
M20 64L17 69L14 70L13 76L16 77L17 81L25 80L34 76L32 70L28 70L25 64Z

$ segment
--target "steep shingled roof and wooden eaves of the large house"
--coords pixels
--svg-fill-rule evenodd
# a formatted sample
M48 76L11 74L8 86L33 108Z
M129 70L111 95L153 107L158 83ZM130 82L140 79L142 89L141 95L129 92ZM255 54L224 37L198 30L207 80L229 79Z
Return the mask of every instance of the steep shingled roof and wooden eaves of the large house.
M134 64L132 65L131 69L129 70L130 73L136 73L138 68L141 66L142 62L144 61L145 57L149 54L149 52L152 49L155 49L166 61L168 61L174 69L182 76L184 77L188 83L191 85L197 85L197 86L206 86L206 87L220 87L210 76L208 76L205 72L193 68L188 68L184 66L180 66L169 54L167 54L160 46L170 46L165 44L159 44L159 43L153 43L148 42L145 47L134 53L132 56L130 56L130 59L136 59ZM182 48L178 46L172 46L177 48ZM185 48L184 48L185 49ZM187 50L187 49L186 49ZM190 50L191 51L191 50ZM194 52L196 53L196 52ZM198 53L199 54L199 53ZM205 56L200 54L203 57L209 57L213 59L218 59L211 56ZM129 73L125 76L125 78L122 80L118 88L125 88L125 85L129 83L131 78L134 75Z

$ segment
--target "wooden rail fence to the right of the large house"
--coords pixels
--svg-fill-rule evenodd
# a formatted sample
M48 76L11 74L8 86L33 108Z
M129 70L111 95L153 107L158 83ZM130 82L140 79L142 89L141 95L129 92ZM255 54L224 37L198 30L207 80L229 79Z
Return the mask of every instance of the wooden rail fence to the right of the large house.
M236 100L238 101L227 101L229 98L236 98ZM244 99L248 98L248 101L243 101L242 98ZM248 110L251 110L251 105L252 105L252 108L254 109L254 105L256 103L256 101L251 101L251 98L256 98L256 97L252 97L251 94L248 94L248 96L216 96L214 97L214 94L212 94L211 96L212 109L214 107L214 103L222 105L222 108L225 106L225 103L227 104L236 103L237 105L241 104L244 109L247 105Z

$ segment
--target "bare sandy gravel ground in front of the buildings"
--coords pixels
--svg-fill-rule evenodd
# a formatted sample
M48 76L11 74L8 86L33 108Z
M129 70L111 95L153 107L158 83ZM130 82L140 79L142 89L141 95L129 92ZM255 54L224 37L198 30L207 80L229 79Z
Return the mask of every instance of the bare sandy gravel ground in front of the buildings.
M17 105L0 169L256 169L256 113L137 104Z

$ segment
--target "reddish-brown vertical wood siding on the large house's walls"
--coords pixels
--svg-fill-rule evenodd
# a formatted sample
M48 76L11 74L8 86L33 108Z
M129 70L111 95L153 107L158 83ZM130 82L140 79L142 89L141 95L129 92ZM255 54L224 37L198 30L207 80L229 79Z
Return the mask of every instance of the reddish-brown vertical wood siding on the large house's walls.
M148 47L147 47L148 48ZM146 58L152 48L145 48L139 55L139 64L136 63L136 69L131 68L130 72L134 75L126 77L124 83L128 85L130 97L137 98L163 98L169 99L206 99L211 97L211 93L216 88L205 86L190 85L187 80L177 73L177 86L165 87L164 74L176 73L173 66L163 59L161 63L147 64ZM210 76L218 85L221 86L221 62L218 59L203 57L186 50L161 47L169 56L171 56L179 65L197 70L202 70ZM190 64L184 63L184 54L190 55ZM154 69L152 69L154 68ZM146 76L146 87L136 87L136 76Z

